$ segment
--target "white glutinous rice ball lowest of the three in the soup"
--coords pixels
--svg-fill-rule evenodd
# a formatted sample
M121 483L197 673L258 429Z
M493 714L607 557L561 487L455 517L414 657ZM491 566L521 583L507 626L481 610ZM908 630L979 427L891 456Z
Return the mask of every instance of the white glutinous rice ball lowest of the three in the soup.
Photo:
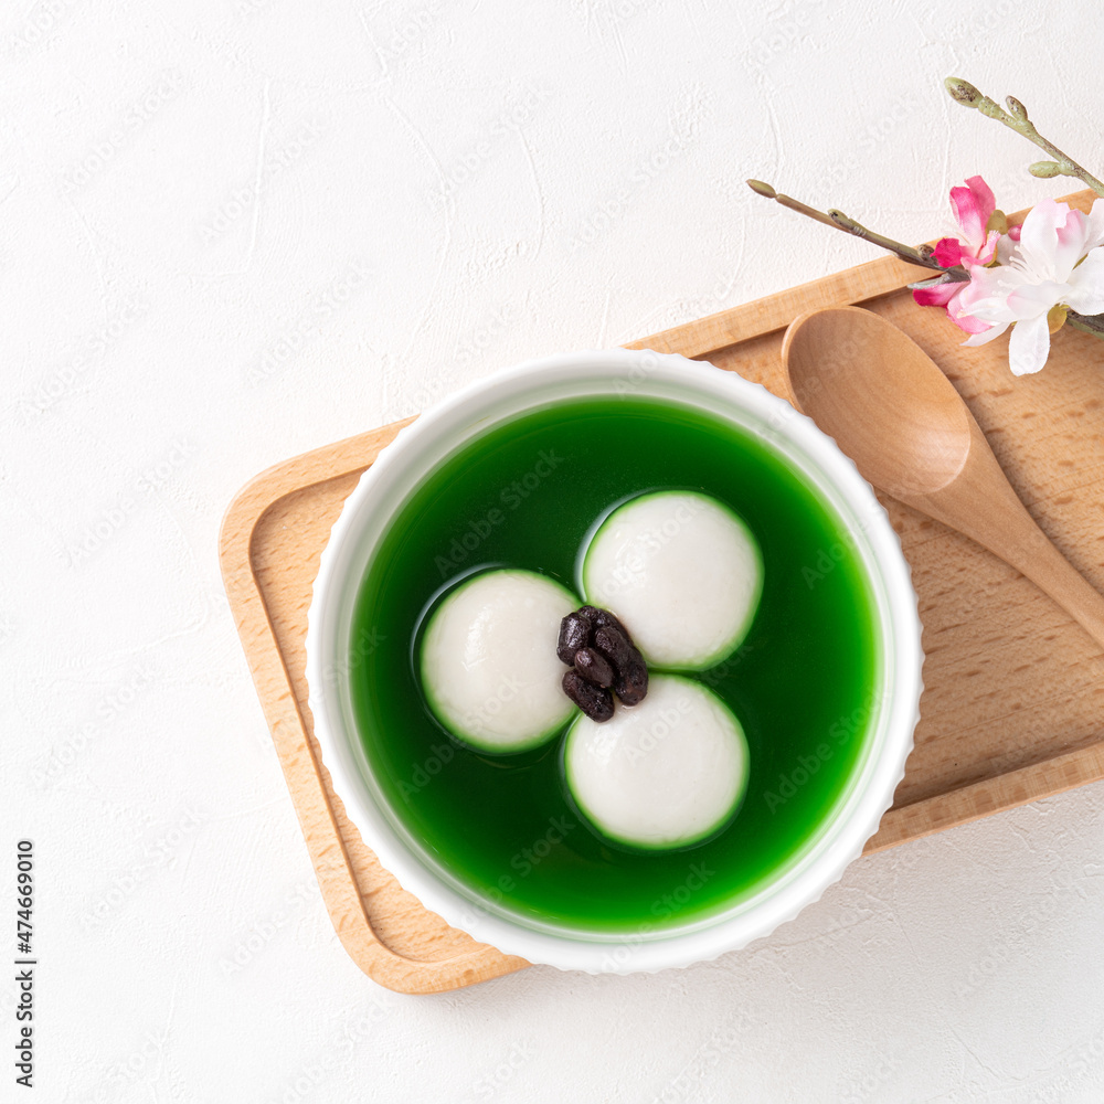
M747 785L747 741L710 690L657 675L648 697L567 733L564 772L580 811L602 835L631 847L684 847L735 811Z

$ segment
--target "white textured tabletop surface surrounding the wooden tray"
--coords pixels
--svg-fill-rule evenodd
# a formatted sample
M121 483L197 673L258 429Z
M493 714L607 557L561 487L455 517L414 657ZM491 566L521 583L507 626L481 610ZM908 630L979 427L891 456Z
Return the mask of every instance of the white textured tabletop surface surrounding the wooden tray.
M3 6L0 854L35 840L42 965L36 1097L0 986L2 1098L1104 1096L1102 786L861 860L710 965L378 988L215 553L277 460L877 255L745 177L906 241L979 170L1009 209L1072 190L941 87L1015 92L1100 171L1104 32L1062 11Z

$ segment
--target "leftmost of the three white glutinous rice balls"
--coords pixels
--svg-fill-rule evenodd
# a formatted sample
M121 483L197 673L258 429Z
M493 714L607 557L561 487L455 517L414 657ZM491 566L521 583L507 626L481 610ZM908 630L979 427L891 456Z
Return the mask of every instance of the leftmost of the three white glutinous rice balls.
M567 722L561 619L577 605L531 571L487 571L433 613L422 639L422 687L437 720L486 752L535 747Z

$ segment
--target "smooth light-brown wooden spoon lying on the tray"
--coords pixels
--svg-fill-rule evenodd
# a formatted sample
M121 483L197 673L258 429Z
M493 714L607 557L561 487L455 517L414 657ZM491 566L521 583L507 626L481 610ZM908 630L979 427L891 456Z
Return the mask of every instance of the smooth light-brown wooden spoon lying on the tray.
M910 337L858 307L810 310L782 344L794 405L906 506L1022 572L1104 648L1104 597L1012 490L954 385Z

